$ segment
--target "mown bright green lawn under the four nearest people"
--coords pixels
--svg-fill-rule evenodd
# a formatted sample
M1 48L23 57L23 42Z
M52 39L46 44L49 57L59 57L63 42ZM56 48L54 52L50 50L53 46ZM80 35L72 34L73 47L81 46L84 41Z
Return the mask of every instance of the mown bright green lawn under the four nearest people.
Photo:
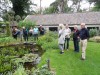
M81 50L75 53L70 42L70 49L65 50L64 54L59 54L59 49L47 50L39 66L50 58L51 68L56 71L56 75L100 75L100 43L88 42L86 60L80 60L80 57Z

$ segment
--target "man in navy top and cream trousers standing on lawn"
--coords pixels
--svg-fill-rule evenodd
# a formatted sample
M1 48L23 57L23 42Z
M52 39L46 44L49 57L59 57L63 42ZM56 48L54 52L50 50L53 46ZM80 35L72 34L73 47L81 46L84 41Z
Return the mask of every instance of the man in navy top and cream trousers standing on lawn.
M85 23L81 23L81 30L79 33L81 49L82 49L82 60L86 59L86 48L87 48L87 39L89 39L89 31L85 27Z

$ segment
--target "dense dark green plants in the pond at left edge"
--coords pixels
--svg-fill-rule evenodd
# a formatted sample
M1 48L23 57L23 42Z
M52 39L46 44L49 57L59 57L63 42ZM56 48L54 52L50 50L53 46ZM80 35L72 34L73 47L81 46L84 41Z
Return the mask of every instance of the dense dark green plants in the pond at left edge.
M16 51L15 48L12 47L2 48L0 50L0 73L3 73L3 75L7 75L4 73L13 71L13 68L14 66L17 66L17 63L15 64L15 62L12 61L12 59L16 59L17 57L27 53L29 53L28 49L24 50L21 48L18 51ZM18 60L16 59L16 61Z

